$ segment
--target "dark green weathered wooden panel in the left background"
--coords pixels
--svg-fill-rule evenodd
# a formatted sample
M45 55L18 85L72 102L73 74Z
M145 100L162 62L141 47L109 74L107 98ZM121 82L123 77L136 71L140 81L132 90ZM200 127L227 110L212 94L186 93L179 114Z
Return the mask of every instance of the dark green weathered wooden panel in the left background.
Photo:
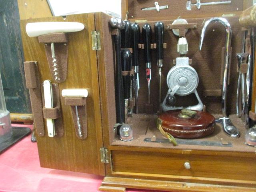
M7 110L31 113L25 87L17 0L0 0L0 72Z

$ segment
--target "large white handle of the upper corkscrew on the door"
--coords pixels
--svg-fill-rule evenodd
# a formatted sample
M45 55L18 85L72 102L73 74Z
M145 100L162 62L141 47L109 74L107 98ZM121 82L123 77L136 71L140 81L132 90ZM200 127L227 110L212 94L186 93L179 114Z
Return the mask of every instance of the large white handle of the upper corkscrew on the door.
M84 24L78 22L37 22L28 23L26 32L29 37L37 37L51 33L77 32L84 29Z

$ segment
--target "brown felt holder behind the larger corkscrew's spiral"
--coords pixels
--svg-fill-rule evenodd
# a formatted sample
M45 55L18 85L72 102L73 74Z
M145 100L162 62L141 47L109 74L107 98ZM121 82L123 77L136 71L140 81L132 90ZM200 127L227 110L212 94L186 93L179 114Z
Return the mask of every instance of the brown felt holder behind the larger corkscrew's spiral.
M46 57L48 60L50 72L52 79L57 83L62 83L66 80L67 77L67 68L68 68L68 36L65 33L54 33L47 34L38 37L40 43L44 43L44 48L46 52ZM52 49L51 43L54 43L54 53L56 58L56 68L54 71L54 63L52 58ZM58 75L54 75L55 72ZM55 77L57 77L55 79Z

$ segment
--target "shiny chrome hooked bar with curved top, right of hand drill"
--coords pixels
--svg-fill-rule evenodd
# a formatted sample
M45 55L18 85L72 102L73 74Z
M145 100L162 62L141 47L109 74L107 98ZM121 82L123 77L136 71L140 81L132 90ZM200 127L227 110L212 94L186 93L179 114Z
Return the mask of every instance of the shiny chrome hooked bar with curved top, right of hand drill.
M201 38L199 42L199 50L202 49L203 41L204 41L204 36L206 32L206 28L211 24L212 22L218 22L221 23L226 30L226 43L225 43L225 54L224 54L224 74L223 74L223 83L222 83L222 99L221 99L221 104L222 104L222 118L216 119L216 122L222 123L224 131L230 135L231 137L239 137L240 132L238 128L236 128L230 119L227 116L226 110L227 110L227 88L228 88L228 71L229 71L229 66L230 66L230 60L231 60L231 55L230 55L230 49L231 49L231 37L232 37L232 30L231 26L225 18L222 17L214 17L209 20L207 20L204 23L204 27L202 28L202 33L201 33Z

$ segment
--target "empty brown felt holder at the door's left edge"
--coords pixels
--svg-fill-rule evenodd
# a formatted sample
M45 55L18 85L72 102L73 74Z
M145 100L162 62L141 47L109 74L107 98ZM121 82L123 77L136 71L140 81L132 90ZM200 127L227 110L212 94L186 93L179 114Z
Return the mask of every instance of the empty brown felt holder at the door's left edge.
M39 81L38 66L36 61L24 62L26 87L29 90L30 102L34 119L34 127L38 136L42 137L44 131L44 119L42 112L41 86Z

